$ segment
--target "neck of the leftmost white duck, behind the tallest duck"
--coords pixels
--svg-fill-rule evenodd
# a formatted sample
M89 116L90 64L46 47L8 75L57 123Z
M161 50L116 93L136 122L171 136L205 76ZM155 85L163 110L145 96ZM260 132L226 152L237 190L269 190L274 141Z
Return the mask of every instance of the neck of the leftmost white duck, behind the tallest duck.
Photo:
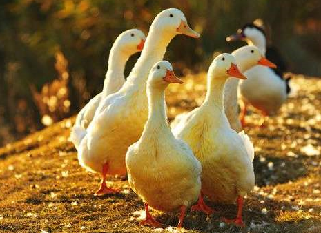
M126 52L121 51L119 45L115 45L114 43L108 58L108 70L102 91L103 98L117 92L125 83L124 69L129 57Z

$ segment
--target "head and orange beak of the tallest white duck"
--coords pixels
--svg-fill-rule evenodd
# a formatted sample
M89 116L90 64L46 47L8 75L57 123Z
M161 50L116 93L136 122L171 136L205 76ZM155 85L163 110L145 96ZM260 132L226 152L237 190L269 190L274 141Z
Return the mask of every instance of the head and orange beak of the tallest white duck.
M169 8L160 12L155 17L151 29L159 30L162 34L167 34L169 37L175 37L177 34L185 34L193 38L200 37L200 34L188 26L183 12L175 8Z

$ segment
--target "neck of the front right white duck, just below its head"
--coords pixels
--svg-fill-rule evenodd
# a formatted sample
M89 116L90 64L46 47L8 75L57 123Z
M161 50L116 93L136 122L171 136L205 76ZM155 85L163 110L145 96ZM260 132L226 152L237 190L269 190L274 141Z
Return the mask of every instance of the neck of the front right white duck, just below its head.
M224 111L224 85L225 77L216 77L215 74L208 74L207 92L203 105L218 108Z

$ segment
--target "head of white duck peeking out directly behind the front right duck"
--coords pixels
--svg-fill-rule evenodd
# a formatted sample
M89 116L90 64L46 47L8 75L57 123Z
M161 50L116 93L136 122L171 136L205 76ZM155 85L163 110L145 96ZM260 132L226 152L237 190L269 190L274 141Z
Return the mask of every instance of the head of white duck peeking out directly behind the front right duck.
M264 65L270 68L276 68L276 65L266 59L260 52L260 50L254 45L247 45L241 48L238 48L234 52L234 55L237 63L239 63L242 70L249 70L254 65Z

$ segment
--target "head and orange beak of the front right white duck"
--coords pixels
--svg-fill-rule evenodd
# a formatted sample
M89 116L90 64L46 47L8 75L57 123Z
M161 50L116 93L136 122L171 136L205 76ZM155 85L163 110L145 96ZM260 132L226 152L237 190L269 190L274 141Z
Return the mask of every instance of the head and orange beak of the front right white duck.
M208 74L216 79L228 79L228 77L246 79L244 74L237 68L235 57L228 53L215 57L208 69Z

